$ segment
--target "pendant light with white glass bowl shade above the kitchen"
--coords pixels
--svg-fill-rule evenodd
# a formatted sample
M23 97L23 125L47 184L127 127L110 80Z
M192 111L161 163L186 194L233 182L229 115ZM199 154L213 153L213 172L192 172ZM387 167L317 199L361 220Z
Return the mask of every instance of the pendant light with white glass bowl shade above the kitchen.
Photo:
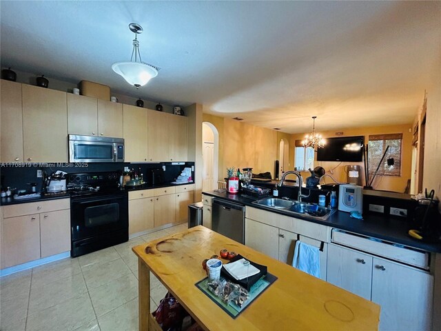
M133 50L130 62L116 62L112 64L112 69L117 74L121 75L127 83L136 86L145 86L150 79L158 75L158 68L141 61L141 54L139 52L138 34L143 32L143 28L137 23L129 24L130 31L134 32L135 39L133 39ZM134 61L133 61L134 57Z

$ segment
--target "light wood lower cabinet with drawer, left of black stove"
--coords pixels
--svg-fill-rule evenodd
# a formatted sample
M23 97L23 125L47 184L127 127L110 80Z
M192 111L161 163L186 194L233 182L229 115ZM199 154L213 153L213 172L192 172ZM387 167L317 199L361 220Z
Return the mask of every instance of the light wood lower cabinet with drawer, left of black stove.
M61 209L64 208L64 209ZM1 269L70 250L70 199L1 208Z

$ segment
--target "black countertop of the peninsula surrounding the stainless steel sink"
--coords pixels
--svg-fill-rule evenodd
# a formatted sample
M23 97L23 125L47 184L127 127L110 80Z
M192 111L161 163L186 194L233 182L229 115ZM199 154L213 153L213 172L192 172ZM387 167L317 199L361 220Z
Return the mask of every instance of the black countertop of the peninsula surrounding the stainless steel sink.
M258 209L269 210L271 212L287 215L289 217L296 217L297 219L305 219L306 221L362 234L367 237L374 237L384 241L398 243L410 248L417 248L427 252L441 253L441 243L426 243L410 237L407 232L411 228L411 224L404 219L387 217L379 214L363 214L363 220L360 220L349 217L349 212L340 212L337 210L327 220L322 221L319 219L302 217L301 215L294 216L293 214L285 212L284 210L274 210L272 208L265 208L265 206L262 205L256 205L252 203L253 201L257 200L256 198L241 196L240 193L229 194L227 192L209 191L203 192L203 194L234 201L243 205L249 205L250 207Z

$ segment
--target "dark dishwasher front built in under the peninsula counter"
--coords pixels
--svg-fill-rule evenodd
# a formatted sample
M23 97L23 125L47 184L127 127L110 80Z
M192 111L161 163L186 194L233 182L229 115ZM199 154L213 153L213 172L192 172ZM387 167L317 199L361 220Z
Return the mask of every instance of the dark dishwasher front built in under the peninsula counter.
M212 209L212 230L245 243L245 206L214 198Z

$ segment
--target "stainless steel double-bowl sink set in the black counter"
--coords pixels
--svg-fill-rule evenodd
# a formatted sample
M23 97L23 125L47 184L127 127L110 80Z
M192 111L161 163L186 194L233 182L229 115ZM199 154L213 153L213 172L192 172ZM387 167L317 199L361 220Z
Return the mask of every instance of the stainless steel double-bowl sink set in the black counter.
M271 209L285 210L285 212L289 212L290 214L302 215L305 217L311 217L311 219L321 220L327 219L336 211L335 209L321 207L320 205L313 203L278 198L265 198L253 201L253 203Z

